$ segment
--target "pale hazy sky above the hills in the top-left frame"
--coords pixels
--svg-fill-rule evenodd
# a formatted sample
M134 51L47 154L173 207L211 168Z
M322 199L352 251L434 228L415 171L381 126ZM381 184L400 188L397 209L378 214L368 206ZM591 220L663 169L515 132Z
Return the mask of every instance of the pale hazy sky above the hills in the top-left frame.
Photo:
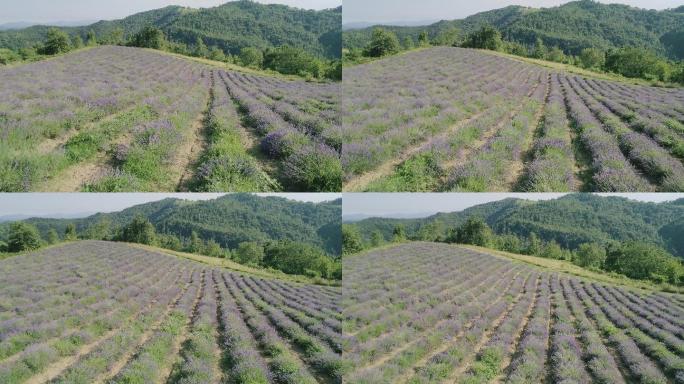
M56 22L112 20L137 12L182 5L193 8L214 7L230 0L0 0L0 24L17 21ZM259 3L285 4L305 9L335 8L342 0L256 0Z

